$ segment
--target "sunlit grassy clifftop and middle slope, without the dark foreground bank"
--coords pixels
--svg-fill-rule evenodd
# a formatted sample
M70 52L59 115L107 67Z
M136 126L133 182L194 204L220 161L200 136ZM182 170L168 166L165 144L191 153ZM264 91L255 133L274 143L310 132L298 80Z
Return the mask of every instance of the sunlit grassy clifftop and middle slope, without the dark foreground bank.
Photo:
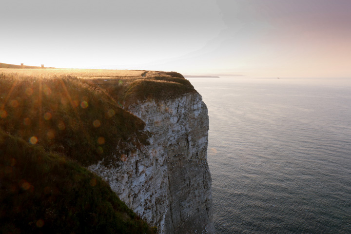
M0 129L85 166L110 163L148 144L145 123L125 108L191 92L176 72L0 69Z

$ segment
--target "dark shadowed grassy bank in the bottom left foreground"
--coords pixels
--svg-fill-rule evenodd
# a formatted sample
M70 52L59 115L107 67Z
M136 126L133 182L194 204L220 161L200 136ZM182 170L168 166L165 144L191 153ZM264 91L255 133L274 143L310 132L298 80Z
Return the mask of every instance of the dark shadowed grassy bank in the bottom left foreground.
M0 130L0 233L154 233L72 160Z

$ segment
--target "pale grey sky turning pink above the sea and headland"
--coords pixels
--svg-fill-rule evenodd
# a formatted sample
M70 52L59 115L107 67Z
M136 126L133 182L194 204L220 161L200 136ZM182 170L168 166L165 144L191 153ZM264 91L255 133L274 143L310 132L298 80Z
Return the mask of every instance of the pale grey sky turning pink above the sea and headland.
M351 0L1 0L0 62L351 78Z

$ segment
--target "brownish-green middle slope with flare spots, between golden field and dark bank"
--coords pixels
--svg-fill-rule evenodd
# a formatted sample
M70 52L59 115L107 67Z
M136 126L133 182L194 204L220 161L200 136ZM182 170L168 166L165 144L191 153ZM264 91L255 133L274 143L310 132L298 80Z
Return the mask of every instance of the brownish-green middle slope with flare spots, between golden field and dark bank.
M127 141L148 144L144 122L83 79L2 74L0 95L5 132L85 166L127 155L132 150Z

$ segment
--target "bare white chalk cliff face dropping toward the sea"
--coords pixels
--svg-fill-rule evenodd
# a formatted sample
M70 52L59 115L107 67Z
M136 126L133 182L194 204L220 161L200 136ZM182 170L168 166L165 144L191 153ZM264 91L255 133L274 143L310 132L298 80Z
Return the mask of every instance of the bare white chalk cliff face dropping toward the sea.
M214 233L207 164L209 119L197 92L137 103L128 111L146 123L150 145L117 166L89 167L160 234Z

